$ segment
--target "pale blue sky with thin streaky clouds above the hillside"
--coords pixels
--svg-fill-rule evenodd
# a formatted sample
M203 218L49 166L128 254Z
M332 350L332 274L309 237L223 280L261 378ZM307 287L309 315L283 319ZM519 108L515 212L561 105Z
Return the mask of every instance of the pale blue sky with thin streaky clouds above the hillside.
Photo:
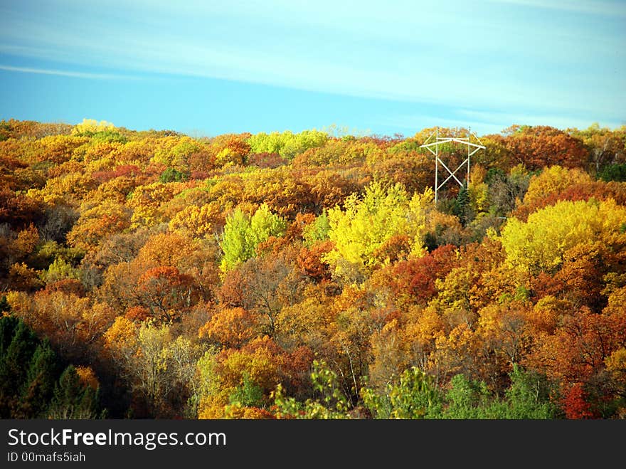
M0 119L192 135L626 124L626 1L0 0Z

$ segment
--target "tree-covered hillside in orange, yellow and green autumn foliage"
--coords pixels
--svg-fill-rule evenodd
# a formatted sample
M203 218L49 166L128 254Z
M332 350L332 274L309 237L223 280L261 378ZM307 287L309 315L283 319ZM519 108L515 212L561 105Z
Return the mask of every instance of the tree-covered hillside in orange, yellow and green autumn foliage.
M0 418L626 418L626 126L433 130L1 121Z

